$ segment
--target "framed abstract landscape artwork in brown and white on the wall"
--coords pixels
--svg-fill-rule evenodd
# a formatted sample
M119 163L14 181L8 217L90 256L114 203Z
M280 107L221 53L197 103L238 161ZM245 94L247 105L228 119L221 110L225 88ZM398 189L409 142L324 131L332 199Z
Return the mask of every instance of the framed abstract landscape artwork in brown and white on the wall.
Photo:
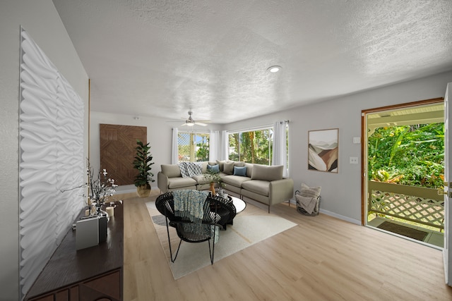
M308 131L308 169L338 173L339 129Z

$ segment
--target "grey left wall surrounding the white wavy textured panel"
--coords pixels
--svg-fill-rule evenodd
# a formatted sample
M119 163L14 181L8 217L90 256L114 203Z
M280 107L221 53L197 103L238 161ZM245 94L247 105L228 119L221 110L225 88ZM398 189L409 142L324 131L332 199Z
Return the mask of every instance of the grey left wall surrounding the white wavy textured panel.
M20 25L85 101L88 75L51 0L6 0L0 4L0 300L19 298L18 161ZM88 127L85 130L88 137ZM88 140L85 139L85 145ZM87 153L87 149L85 149Z

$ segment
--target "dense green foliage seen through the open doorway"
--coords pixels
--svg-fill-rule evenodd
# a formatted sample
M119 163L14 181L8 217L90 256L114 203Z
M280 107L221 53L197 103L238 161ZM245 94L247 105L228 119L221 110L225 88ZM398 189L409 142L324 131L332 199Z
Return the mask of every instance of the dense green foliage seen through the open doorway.
M443 187L444 123L377 128L368 152L371 180Z

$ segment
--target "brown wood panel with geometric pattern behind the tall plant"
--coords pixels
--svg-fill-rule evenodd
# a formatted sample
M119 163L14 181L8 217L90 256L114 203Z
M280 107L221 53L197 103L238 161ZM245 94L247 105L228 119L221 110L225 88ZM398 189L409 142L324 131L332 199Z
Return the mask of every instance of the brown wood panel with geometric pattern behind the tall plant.
M148 140L145 126L100 124L100 168L106 169L117 185L130 185L135 180L133 159L136 140Z

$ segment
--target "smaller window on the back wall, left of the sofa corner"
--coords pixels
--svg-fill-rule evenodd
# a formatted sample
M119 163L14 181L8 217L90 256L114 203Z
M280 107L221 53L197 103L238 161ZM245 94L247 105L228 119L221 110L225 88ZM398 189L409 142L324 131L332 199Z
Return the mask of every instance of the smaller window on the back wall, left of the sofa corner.
M209 134L184 133L177 134L179 162L199 162L209 159Z

